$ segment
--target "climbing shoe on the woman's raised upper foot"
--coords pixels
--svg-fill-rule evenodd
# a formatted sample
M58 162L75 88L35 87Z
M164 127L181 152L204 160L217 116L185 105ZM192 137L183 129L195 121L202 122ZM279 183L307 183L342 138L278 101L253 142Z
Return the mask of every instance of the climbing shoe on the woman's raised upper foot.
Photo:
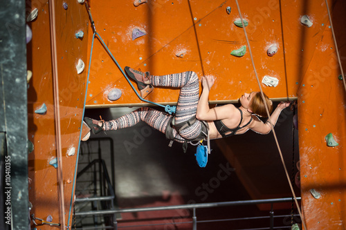
M133 68L125 67L125 72L131 79L137 82L137 87L140 90L140 97L147 97L149 93L152 93L154 87L149 84L149 72L141 72L138 70L134 70ZM146 83L145 83L146 82Z

